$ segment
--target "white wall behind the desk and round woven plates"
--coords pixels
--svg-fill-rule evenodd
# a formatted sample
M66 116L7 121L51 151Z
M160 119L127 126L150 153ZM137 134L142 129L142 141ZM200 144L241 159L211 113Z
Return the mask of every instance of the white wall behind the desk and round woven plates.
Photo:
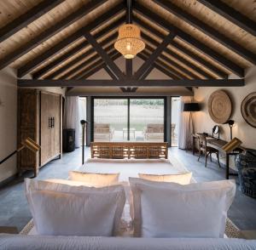
M230 78L235 78L230 76ZM232 88L197 88L195 89L195 100L202 103L203 110L194 114L195 131L212 133L212 127L215 122L212 121L207 111L207 101L212 92L223 89L229 94L232 100L232 115L230 119L236 121L236 127L233 128L233 138L241 139L246 147L256 148L256 128L251 127L241 116L241 101L252 92L256 91L256 66L246 71L245 87ZM221 138L230 139L230 128L227 124L220 124Z

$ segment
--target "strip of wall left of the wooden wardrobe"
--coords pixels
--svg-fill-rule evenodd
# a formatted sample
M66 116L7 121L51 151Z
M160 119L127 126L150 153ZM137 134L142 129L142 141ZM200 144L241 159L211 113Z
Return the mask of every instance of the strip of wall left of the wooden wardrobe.
M7 68L0 71L0 160L17 145L17 82L16 73ZM0 165L0 182L16 173L16 156Z

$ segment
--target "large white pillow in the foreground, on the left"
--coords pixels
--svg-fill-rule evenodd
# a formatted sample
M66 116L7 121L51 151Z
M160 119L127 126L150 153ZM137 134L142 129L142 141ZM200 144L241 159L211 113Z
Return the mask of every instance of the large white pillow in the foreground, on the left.
M39 235L114 236L125 206L122 185L95 188L25 179Z

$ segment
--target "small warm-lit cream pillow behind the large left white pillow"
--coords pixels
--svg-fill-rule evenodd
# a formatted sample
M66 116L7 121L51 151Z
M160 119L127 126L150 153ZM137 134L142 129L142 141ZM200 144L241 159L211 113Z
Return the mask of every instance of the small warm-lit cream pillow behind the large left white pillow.
M70 171L68 177L71 180L83 181L93 186L113 185L119 181L119 173L86 173Z

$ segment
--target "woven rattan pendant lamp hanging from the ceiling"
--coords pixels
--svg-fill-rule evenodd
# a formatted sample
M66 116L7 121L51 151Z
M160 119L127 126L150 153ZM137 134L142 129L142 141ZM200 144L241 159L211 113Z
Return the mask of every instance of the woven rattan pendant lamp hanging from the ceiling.
M126 24L119 27L119 37L114 43L114 48L123 54L125 59L134 58L145 48L138 26Z

